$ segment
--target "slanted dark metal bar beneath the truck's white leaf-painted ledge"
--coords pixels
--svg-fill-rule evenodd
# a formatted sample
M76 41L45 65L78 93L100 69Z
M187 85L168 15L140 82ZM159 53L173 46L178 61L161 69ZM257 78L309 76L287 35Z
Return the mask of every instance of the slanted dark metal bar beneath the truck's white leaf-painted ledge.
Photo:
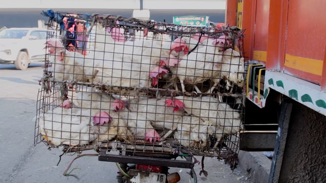
M269 183L279 182L280 171L282 167L283 154L286 144L286 138L290 123L290 116L292 112L292 103L283 101L281 107L281 114L279 118L279 129L276 136L276 145L274 148L273 161L269 173Z

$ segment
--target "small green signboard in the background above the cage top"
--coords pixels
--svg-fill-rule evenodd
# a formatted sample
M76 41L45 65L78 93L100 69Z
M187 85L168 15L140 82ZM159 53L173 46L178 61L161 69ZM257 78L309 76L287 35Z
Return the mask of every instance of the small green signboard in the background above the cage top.
M205 26L209 25L209 16L174 16L173 23L176 25Z

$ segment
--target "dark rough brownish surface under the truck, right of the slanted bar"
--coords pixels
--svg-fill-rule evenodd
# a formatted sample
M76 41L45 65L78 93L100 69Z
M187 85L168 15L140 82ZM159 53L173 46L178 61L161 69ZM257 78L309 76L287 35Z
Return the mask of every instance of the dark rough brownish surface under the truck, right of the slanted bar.
M325 182L326 116L293 102L279 182Z

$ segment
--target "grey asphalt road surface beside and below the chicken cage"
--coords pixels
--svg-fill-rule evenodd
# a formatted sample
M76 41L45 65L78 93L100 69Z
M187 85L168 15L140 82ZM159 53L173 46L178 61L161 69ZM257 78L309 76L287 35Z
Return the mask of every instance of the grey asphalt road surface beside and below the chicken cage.
M76 155L64 155L59 149L48 150L45 144L34 146L36 100L43 70L42 63L31 64L24 71L14 65L0 65L0 182L117 182L115 163L100 162L97 157L82 157L73 162L75 176L63 172ZM84 151L83 154L95 151ZM199 158L200 160L200 158ZM208 176L200 176L201 165L195 165L198 182L250 182L246 173L234 171L216 158L205 158ZM171 168L179 172L181 183L189 182L189 169Z

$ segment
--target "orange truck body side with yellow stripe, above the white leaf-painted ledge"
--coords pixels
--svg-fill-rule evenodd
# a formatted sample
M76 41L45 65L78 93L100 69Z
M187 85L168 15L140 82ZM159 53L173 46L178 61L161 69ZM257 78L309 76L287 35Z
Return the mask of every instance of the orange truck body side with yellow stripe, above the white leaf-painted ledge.
M324 0L228 0L226 21L246 29L244 52L249 60L321 85L326 72L326 21L320 17L324 7Z

